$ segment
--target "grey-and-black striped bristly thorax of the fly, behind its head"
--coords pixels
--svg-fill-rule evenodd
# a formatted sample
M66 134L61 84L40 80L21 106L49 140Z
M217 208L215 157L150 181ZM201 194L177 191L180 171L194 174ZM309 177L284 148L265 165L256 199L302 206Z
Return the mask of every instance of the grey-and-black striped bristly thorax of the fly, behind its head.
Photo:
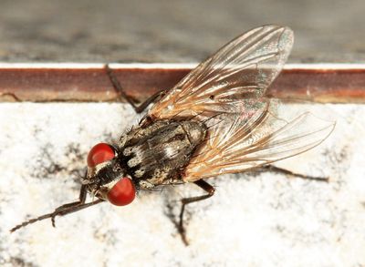
M201 122L156 121L127 134L121 160L132 178L145 180L152 186L179 180L178 171L189 162L205 133L206 127Z

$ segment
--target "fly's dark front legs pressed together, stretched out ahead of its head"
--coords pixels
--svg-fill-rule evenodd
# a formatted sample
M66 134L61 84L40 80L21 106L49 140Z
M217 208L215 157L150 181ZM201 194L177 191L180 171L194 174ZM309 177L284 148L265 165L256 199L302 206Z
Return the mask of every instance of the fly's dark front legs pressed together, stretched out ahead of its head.
M42 220L45 220L47 218L51 218L52 225L53 225L53 227L55 227L56 226L55 225L56 216L63 216L63 215L69 214L69 213L80 211L80 210L89 208L93 205L99 204L100 202L104 201L104 200L95 200L95 201L92 201L92 202L89 202L89 203L85 203L86 196L87 196L86 186L82 185L81 189L80 189L80 194L79 194L78 201L71 202L71 203L68 203L68 204L64 204L64 205L58 207L55 211L53 211L51 213L47 213L47 214L44 214L44 215L39 216L37 218L30 219L28 221L24 221L24 222L16 225L10 231L11 232L16 231L20 228L25 227L28 224L32 224L36 221L42 221Z

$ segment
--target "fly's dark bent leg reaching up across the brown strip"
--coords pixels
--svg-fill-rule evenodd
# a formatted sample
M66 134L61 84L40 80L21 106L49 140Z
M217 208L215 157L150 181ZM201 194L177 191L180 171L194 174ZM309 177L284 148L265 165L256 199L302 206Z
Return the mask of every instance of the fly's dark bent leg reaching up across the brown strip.
M164 91L157 92L153 94L150 98L147 98L143 103L141 103L140 106L136 106L136 104L133 102L133 100L124 92L123 87L120 85L120 81L118 78L114 75L112 69L109 67L109 65L105 65L105 69L107 71L108 77L110 78L110 82L113 85L115 91L118 93L119 98L124 98L127 100L128 103L130 103L130 106L134 108L134 110L137 113L141 113L145 108L147 108L152 102L154 102L157 98L161 97L164 94Z

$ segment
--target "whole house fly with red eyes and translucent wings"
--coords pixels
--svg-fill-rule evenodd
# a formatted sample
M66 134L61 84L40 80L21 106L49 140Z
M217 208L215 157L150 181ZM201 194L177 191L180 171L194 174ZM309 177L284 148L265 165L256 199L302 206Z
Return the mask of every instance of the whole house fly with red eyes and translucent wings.
M293 41L293 32L284 26L260 26L236 37L175 87L155 96L140 123L115 143L90 149L78 201L11 231L47 218L55 226L57 216L102 201L128 205L138 190L193 182L206 193L182 200L177 227L187 243L185 206L214 195L214 187L205 179L295 156L316 147L334 128L333 123L318 123L303 130L306 121L314 119L309 113L291 121L277 118L265 96ZM108 66L107 71L110 74ZM120 87L113 76L110 79ZM94 197L90 202L88 193Z

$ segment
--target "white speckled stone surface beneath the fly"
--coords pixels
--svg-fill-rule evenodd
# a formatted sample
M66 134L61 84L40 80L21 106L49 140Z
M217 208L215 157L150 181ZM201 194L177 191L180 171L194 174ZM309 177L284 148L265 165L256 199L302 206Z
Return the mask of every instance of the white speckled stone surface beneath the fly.
M177 214L193 185L141 192L130 206L108 203L10 234L26 218L78 198L89 148L136 121L123 104L0 105L2 266L364 266L365 129L362 105L289 105L336 119L318 148L277 165L328 176L301 180L272 172L210 180L216 195L188 208L185 247Z

